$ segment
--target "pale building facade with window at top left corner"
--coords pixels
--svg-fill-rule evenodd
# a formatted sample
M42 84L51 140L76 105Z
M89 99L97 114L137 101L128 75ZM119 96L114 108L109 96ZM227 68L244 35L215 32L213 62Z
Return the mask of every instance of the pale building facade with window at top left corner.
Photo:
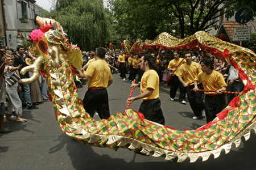
M35 0L1 0L1 5L5 40L1 41L0 34L0 43L16 49L20 37L37 29L36 16L43 16L45 10L36 5Z

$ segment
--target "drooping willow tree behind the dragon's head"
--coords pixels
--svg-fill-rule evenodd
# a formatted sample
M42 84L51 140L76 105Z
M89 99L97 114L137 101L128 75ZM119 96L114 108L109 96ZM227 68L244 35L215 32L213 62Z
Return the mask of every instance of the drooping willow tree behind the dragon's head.
M109 37L102 0L57 0L48 17L67 33L69 42L92 50Z

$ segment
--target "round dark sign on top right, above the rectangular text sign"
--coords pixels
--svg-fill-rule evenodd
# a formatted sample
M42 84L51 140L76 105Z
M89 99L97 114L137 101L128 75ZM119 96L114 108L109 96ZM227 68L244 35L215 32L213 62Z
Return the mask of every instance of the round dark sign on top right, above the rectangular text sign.
M245 24L253 19L253 10L249 7L241 8L237 11L235 19L237 23Z

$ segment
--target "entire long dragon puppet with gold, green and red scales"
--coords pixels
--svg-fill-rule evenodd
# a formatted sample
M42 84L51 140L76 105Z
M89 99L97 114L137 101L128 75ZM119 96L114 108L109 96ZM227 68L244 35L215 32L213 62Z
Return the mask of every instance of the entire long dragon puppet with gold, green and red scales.
M214 158L221 150L230 151L232 143L240 145L241 137L248 139L250 131L256 129L255 101L255 53L240 46L221 41L205 32L197 32L186 39L176 39L162 33L155 40L138 40L133 46L125 41L127 51L147 51L152 48L206 50L225 59L238 71L245 90L214 121L196 130L176 130L145 120L143 114L127 109L111 116L108 120L95 121L86 113L72 76L72 66L81 67L81 52L68 43L60 24L53 19L36 18L39 35L31 33L35 62L25 67L24 72L34 75L23 83L38 78L37 71L43 65L47 75L48 95L53 103L61 130L81 143L97 147L141 148L141 152L154 152L153 156L166 155L167 160L178 157L178 162L199 157Z

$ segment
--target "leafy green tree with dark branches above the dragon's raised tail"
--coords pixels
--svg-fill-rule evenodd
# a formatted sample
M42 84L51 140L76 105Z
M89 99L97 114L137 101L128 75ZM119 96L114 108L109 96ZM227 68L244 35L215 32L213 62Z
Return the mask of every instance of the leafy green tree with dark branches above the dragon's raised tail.
M110 0L115 19L125 33L147 35L166 31L181 39L207 31L233 0ZM139 24L138 24L139 23ZM136 27L134 29L133 27ZM160 32L161 31L161 32ZM154 35L154 36L153 36Z

